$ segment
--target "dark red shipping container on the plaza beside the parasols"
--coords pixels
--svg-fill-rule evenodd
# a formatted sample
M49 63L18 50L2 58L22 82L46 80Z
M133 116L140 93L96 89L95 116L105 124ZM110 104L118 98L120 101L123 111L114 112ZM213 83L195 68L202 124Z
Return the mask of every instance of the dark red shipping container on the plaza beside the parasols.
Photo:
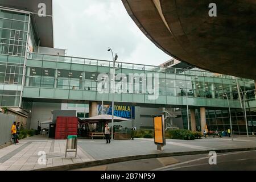
M57 117L55 139L66 139L68 135L77 135L77 117Z

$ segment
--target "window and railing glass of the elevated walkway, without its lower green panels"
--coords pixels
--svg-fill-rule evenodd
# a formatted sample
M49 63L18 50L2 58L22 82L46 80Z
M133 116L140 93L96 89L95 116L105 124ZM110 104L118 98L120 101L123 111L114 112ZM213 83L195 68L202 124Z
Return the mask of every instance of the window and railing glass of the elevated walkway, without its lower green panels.
M108 74L112 68L111 61L80 59L76 57L51 56L38 53L29 53L27 61L26 86L38 88L54 88L69 90L97 90L98 75ZM232 76L214 74L205 71L184 70L175 68L154 67L128 63L116 63L115 84L133 82L132 92L129 85L125 93L150 94L143 92L148 87L148 74L158 74L159 97L167 100L167 97L205 98L212 100L225 100L225 94L229 100L239 100L237 83ZM117 74L122 73L122 78ZM130 77L129 74L137 74L138 77ZM108 76L107 76L108 77ZM133 79L133 81L131 81ZM102 77L104 80L104 77ZM108 77L105 81L106 92L112 80ZM122 85L124 86L124 85ZM156 85L152 84L152 88ZM115 92L118 92L117 88ZM202 100L205 101L205 100ZM183 102L187 102L184 99ZM193 101L189 101L193 105ZM205 101L206 102L206 101ZM166 102L166 104L168 104ZM175 104L175 103L174 103ZM226 105L226 104L224 104Z

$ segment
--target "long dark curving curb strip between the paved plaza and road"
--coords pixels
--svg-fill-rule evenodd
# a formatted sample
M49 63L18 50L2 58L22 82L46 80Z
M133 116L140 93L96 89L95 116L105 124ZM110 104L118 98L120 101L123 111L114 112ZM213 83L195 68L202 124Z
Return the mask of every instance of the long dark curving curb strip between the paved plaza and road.
M216 151L216 153L225 153L225 152L253 151L253 150L256 150L256 147L218 149L218 150L214 150L214 151ZM93 161L90 161L90 162L83 162L83 163L67 164L67 165L62 165L62 166L39 168L39 169L33 169L31 171L68 171L68 170L77 169L77 168L101 166L101 165L105 165L105 164L126 162L126 161L130 161L130 160L150 159L150 158L164 158L164 157L180 156L180 155L208 154L210 151L213 151L213 150L171 152L171 153L162 153L162 154L146 154L146 155L125 156L125 157L120 157L120 158L93 160Z

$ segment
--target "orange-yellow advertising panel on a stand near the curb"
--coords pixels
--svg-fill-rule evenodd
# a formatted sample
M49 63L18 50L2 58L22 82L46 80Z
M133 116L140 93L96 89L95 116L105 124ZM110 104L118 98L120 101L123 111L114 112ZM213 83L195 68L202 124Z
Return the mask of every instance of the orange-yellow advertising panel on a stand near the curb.
M154 117L154 134L155 134L155 144L165 144L164 139L164 129L163 129L163 116Z

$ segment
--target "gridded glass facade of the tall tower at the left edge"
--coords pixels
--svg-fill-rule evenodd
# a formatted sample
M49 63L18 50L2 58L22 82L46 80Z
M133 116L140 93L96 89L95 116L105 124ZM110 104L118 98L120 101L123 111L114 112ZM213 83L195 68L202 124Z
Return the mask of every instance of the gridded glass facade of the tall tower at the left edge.
M0 9L0 106L19 106L29 14Z

